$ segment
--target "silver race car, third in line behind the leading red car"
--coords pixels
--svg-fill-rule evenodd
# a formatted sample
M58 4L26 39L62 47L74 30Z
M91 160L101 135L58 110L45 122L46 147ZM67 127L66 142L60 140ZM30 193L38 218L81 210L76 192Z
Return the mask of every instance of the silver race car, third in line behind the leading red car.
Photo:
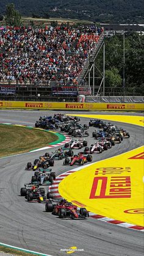
M31 183L34 185L52 185L54 180L56 179L56 172L35 172L35 175L32 176Z

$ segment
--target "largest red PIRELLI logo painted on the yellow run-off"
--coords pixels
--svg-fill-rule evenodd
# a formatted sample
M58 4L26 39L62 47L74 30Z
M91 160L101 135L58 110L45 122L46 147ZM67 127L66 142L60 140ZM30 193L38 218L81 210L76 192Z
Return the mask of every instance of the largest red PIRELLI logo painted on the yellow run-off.
M131 197L131 178L95 177L93 179L90 199L129 198Z

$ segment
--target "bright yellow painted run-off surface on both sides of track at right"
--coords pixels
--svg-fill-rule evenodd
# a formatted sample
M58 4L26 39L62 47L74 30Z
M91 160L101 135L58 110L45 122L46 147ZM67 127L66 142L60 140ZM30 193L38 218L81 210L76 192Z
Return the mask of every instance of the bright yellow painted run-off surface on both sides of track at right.
M84 116L84 115L79 115ZM86 117L86 116L85 116ZM87 115L143 125L142 117ZM128 119L129 117L129 119ZM59 184L62 197L88 211L143 226L143 147L79 168Z

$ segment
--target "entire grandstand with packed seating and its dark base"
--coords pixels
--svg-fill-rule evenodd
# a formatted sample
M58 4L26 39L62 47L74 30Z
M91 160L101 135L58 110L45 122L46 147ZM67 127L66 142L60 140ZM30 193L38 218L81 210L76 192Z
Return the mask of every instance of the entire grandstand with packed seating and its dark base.
M91 95L85 76L90 76L103 38L103 28L95 25L1 27L1 99L77 100L79 94Z

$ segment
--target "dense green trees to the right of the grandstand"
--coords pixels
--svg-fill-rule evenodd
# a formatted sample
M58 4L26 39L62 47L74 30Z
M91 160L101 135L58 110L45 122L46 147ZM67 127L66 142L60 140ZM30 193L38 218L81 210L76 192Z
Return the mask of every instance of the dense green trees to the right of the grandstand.
M123 86L123 35L105 39L106 45L106 86ZM125 86L129 92L143 93L144 81L144 35L125 35ZM99 54L96 65L103 70L103 53Z

